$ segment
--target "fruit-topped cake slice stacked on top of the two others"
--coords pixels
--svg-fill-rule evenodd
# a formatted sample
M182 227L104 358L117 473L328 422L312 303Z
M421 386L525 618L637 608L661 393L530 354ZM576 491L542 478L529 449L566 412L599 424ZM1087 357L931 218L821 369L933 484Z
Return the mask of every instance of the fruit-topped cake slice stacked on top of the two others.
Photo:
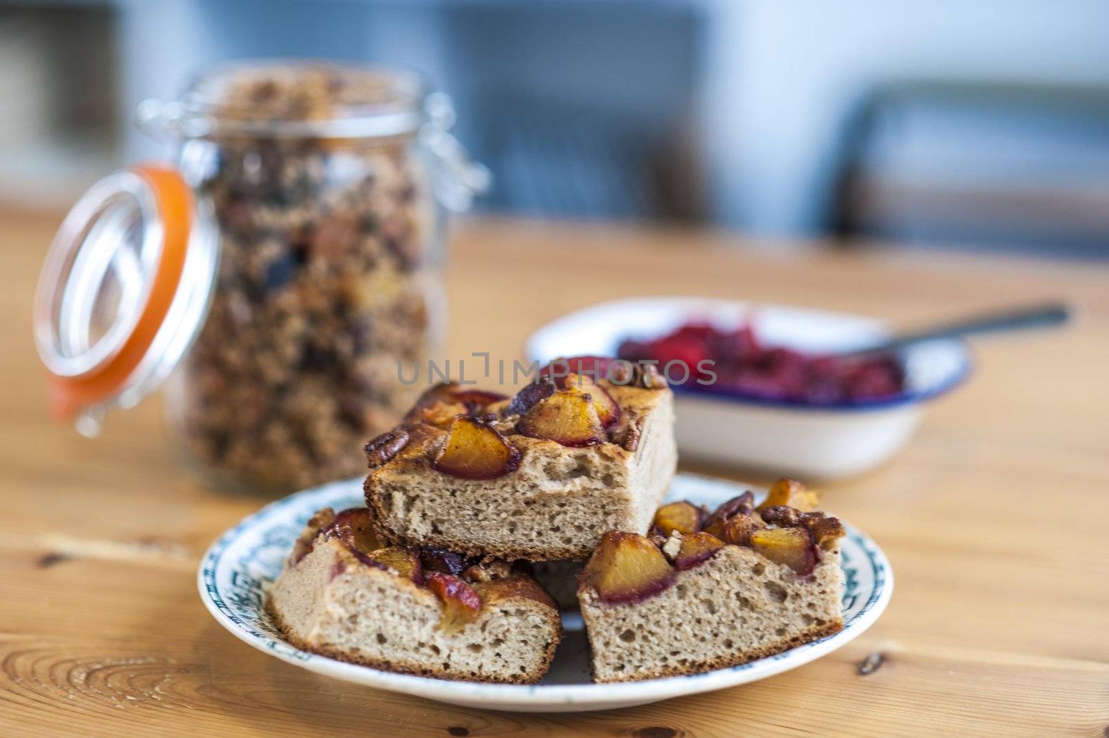
M549 375L509 399L435 387L366 445L383 539L475 555L584 560L645 533L674 475L673 396L653 367Z

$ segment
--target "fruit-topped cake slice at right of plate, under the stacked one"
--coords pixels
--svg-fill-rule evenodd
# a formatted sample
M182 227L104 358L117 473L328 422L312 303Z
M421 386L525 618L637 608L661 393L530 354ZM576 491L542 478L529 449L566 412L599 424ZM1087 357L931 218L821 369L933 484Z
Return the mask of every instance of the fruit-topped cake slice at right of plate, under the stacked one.
M609 532L579 578L597 681L696 674L843 629L843 525L782 480L709 513L663 505L649 535Z

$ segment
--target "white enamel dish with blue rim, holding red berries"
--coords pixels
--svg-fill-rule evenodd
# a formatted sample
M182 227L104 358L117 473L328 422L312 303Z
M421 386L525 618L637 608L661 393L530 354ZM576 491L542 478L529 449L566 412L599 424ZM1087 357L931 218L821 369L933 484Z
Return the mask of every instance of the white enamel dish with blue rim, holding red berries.
M734 329L752 320L767 346L807 352L858 348L887 335L882 321L842 312L685 297L603 303L550 322L528 339L532 361L614 356L625 338L650 339L692 320ZM924 406L970 372L967 345L943 339L905 350L906 389L878 400L814 404L676 388L678 448L683 460L835 479L868 471L896 453Z

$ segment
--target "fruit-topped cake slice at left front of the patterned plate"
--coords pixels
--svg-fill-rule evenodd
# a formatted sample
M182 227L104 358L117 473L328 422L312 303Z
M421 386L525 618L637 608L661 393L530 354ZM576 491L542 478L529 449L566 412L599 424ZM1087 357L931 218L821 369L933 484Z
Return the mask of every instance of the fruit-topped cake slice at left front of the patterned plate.
M268 607L298 648L448 679L533 684L562 637L558 606L506 562L383 546L365 508L317 512Z

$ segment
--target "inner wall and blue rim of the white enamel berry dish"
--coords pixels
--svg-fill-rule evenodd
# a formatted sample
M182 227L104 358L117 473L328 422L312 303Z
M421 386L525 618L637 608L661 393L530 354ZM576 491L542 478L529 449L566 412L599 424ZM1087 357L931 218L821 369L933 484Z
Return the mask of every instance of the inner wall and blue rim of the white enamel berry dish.
M739 300L648 297L602 303L547 324L528 339L531 361L567 356L615 356L625 338L650 339L698 320L734 329L746 320L767 346L831 352L865 346L888 335L881 320L844 312L811 310ZM897 394L867 400L811 402L774 398L737 389L673 387L676 394L767 408L826 412L866 412L918 404L955 389L970 376L969 346L958 338L909 347L903 352L906 388Z

